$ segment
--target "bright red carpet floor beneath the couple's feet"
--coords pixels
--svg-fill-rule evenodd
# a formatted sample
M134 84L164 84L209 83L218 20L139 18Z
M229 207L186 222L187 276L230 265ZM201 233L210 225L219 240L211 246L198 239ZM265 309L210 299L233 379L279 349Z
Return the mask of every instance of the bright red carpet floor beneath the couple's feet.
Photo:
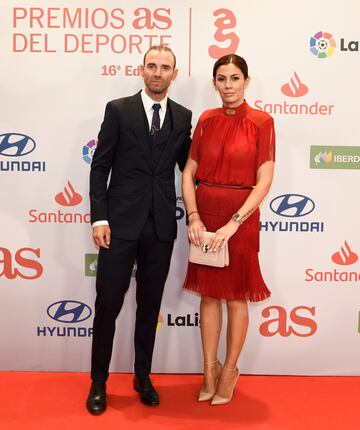
M153 375L159 407L140 403L132 375L111 375L108 409L85 409L85 373L0 372L1 430L359 430L359 377L241 376L233 401L196 401L199 375Z

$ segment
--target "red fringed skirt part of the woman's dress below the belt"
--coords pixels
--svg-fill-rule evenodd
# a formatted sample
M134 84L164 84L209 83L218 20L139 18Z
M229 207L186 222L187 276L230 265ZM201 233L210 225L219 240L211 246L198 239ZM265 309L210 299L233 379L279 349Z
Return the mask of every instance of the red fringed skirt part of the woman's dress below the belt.
M251 189L199 184L196 201L207 231L215 232L243 205ZM257 209L230 238L229 266L188 264L184 288L203 296L258 302L270 296L259 266L260 212Z

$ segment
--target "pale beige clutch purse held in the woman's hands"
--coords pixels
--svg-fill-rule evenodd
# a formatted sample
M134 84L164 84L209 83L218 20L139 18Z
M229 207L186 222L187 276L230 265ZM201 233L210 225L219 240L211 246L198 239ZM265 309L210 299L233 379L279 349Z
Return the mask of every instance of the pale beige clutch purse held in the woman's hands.
M209 250L208 243L213 236L215 236L215 233L204 231L205 243L200 248L190 243L190 263L214 267L225 267L229 265L229 248L227 244L224 248L218 248L216 252Z

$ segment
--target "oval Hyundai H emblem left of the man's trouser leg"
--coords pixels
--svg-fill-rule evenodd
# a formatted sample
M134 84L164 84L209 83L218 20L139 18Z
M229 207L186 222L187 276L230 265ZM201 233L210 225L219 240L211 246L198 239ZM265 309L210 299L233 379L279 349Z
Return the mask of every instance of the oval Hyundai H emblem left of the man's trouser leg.
M63 323L74 323L85 321L90 318L92 312L85 303L76 300L61 300L47 308L47 314L55 321Z

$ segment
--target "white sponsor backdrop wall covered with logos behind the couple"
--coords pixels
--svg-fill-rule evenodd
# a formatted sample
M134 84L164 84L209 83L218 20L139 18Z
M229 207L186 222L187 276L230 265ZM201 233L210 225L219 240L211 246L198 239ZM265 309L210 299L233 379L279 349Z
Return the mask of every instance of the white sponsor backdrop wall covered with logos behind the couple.
M232 52L249 64L247 101L276 123L259 226L272 296L250 305L241 372L358 375L359 14L355 0L2 0L0 369L89 370L90 163L106 102L140 90L144 53L165 43L179 68L170 97L193 111L193 126L220 105L212 66ZM179 234L153 370L199 372L199 298L182 291L180 172L176 185ZM135 288L132 279L117 321L115 372L133 369Z

